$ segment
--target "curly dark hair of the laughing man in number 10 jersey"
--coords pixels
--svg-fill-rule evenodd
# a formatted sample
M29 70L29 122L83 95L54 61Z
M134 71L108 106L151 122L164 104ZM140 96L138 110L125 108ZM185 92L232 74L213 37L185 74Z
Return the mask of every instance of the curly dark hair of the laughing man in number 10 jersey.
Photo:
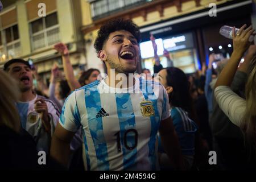
M98 31L98 36L94 42L94 48L96 49L97 53L102 50L106 40L109 38L109 34L118 30L126 30L129 31L137 42L141 41L141 31L139 27L133 23L130 19L114 19L106 22L103 26L101 26L100 30Z

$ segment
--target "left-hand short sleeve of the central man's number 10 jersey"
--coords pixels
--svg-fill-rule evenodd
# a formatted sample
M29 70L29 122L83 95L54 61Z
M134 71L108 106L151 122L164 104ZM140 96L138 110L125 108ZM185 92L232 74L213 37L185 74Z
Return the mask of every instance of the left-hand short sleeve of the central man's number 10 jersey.
M64 129L72 132L76 132L81 126L75 92L70 94L65 100L61 110L59 123Z

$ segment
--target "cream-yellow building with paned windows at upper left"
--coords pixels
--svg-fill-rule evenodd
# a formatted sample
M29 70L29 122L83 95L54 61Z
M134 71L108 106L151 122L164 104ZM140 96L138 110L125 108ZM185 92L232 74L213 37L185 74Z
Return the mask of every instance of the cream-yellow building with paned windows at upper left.
M61 57L53 49L59 42L68 45L76 73L86 65L80 0L13 1L3 8L0 19L0 67L14 57L31 60L48 81L54 63L62 68Z

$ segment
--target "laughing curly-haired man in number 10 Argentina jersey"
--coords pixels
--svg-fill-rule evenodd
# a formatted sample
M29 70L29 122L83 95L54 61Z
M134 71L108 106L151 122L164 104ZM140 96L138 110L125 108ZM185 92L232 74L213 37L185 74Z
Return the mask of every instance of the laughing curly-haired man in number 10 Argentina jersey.
M67 166L68 144L82 126L87 170L158 169L158 130L172 162L183 167L165 89L129 75L137 68L139 40L139 28L131 20L101 27L94 47L109 75L75 90L65 101L51 145L57 162ZM117 82L120 75L125 77Z

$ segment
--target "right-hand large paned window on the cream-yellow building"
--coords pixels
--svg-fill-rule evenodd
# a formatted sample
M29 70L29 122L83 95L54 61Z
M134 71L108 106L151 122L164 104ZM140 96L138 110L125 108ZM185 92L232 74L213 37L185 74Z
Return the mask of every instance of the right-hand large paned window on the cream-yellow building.
M51 46L59 42L57 13L37 19L30 23L32 50Z

